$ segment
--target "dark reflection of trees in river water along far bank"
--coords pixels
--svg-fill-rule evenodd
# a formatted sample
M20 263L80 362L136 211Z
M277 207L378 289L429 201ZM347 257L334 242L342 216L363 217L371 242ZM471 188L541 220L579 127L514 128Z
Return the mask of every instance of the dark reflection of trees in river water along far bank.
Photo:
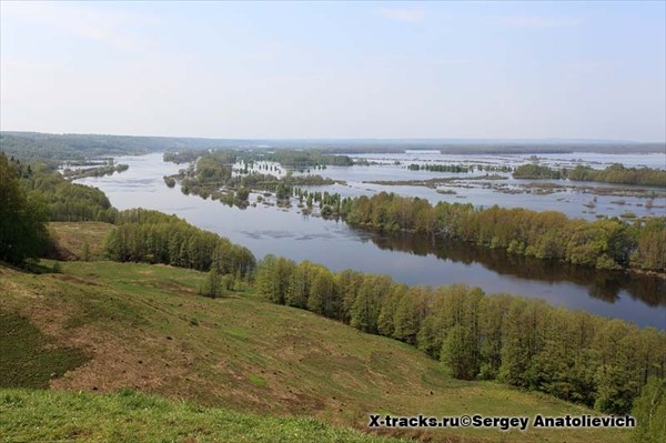
M574 266L553 260L507 254L505 251L476 248L471 243L433 239L428 235L373 235L380 249L435 255L457 263L478 263L501 275L514 275L548 283L571 282L588 288L589 296L613 303L625 290L633 299L649 306L666 305L666 280L657 276L637 276L619 272Z

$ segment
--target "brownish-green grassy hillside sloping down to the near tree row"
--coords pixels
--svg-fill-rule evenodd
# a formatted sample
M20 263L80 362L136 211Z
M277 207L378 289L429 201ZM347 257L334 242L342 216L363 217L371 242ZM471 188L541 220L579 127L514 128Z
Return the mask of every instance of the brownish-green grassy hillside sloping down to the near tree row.
M250 291L218 300L200 296L196 288L205 276L200 272L111 262L61 264L61 274L41 275L0 268L2 323L13 319L14 324L12 333L3 331L2 340L11 343L2 349L32 350L32 356L23 356L29 362L39 358L33 364L21 363L20 371L11 372L11 381L4 374L19 363L2 359L2 386L48 384L57 390L98 392L129 387L204 406L282 416L313 415L359 429L365 429L367 415L373 412L435 416L592 413L492 382L454 380L440 363L406 344L263 302ZM62 359L40 356L46 350L67 355L69 371L63 371ZM78 407L90 401L91 405L109 402L111 411L120 411L123 401L118 395L83 400L64 394L43 399L24 392L11 395L54 409L58 402L72 402L71 407ZM180 421L176 414L188 407L164 405L174 422ZM30 427L29 414L13 413L23 416L19 422ZM160 422L159 415L145 413L147 422ZM219 413L206 412L206 420ZM64 417L63 413L59 420ZM202 423L208 430L209 422ZM23 431L29 435L20 424L13 426L19 426L12 427L17 436ZM623 442L629 440L629 433L463 429L436 431L430 437L464 442ZM279 434L274 440L280 440Z

